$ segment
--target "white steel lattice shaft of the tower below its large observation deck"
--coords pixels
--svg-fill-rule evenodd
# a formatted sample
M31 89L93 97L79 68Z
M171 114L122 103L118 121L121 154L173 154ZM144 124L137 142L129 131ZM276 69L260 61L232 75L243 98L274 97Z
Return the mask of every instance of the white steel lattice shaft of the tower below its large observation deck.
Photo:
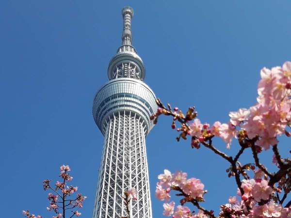
M93 218L128 216L122 197L131 187L131 218L152 218L144 121L134 112L119 111L107 123Z

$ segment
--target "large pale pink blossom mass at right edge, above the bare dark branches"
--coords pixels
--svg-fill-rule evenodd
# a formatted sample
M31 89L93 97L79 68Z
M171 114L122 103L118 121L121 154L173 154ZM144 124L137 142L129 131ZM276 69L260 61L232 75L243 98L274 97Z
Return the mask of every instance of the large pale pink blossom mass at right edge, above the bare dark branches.
M278 143L278 135L291 135L285 129L291 121L291 62L285 62L282 67L263 68L260 75L257 104L230 112L227 124L217 121L210 127L194 119L188 131L194 137L194 147L210 136L218 136L229 148L233 137L241 130L249 139L259 137L257 145L267 150Z

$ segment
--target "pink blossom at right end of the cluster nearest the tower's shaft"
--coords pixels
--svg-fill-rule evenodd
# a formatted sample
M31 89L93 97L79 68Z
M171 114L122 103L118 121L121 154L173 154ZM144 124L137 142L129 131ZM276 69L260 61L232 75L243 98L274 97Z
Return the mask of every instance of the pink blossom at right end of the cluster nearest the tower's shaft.
M191 178L188 179L182 186L182 190L190 195L192 198L203 197L204 194L204 185L199 179Z

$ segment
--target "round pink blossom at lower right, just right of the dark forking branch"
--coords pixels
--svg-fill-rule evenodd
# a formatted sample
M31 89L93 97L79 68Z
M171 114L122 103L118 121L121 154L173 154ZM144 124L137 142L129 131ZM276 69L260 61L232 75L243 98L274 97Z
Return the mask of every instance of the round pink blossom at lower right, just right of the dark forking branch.
M260 200L268 200L272 192L272 187L268 186L268 181L264 179L260 182L256 182L252 188L253 198L257 202L260 202Z

